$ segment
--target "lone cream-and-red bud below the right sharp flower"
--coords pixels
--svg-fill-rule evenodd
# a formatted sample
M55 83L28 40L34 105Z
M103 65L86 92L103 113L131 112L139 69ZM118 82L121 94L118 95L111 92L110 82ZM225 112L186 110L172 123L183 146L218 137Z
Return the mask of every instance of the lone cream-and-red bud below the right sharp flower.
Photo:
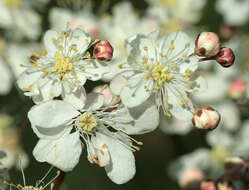
M213 130L220 122L220 114L212 107L198 108L192 118L195 127L203 130Z

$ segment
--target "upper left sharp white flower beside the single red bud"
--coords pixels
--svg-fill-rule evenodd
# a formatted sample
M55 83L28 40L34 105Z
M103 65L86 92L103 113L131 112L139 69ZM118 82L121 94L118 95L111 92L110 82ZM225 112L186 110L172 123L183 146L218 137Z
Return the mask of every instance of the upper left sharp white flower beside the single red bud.
M47 31L44 36L46 51L33 54L30 63L24 65L27 69L18 78L19 88L35 103L62 95L75 104L77 90L86 80L99 80L107 72L103 62L92 59L88 52L91 44L90 36L79 28ZM80 105L76 103L75 106Z

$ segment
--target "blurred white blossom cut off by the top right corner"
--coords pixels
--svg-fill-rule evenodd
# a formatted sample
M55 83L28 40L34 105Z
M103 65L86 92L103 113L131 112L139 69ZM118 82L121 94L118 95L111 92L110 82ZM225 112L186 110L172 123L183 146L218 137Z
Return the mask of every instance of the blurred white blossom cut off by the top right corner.
M248 0L218 0L216 10L228 25L240 26L249 20Z

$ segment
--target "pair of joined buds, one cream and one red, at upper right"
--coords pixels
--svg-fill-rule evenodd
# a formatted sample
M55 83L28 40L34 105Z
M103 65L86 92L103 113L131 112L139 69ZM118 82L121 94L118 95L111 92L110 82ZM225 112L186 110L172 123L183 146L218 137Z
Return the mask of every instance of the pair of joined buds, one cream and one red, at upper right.
M199 61L216 60L222 67L230 67L235 61L232 49L221 47L219 37L213 32L202 32L195 40L195 55Z

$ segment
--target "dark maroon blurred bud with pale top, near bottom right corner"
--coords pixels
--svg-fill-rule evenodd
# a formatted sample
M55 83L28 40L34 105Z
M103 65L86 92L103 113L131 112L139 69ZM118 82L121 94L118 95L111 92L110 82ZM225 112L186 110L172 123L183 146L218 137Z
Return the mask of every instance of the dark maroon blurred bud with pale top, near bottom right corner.
M246 171L247 164L240 157L228 157L225 160L227 177L231 180L240 179Z

